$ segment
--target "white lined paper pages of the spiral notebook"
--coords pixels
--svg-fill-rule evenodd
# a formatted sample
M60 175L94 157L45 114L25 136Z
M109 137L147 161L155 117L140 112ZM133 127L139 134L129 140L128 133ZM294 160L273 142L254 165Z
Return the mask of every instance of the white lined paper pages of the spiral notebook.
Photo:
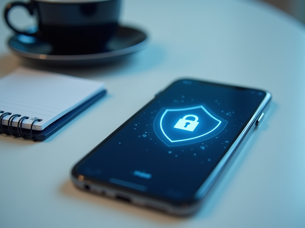
M10 116L19 114L11 126L17 127L19 119L27 116L22 128L30 129L33 121L40 119L32 129L44 130L104 90L101 81L20 67L0 78L0 111L12 113L3 117L2 126L8 125Z

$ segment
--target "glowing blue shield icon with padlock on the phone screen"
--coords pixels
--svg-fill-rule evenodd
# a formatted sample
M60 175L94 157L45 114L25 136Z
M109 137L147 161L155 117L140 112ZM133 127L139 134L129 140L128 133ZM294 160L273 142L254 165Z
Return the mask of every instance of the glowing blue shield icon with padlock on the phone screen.
M209 139L220 133L226 124L226 120L201 104L161 109L154 120L154 130L160 140L172 147Z

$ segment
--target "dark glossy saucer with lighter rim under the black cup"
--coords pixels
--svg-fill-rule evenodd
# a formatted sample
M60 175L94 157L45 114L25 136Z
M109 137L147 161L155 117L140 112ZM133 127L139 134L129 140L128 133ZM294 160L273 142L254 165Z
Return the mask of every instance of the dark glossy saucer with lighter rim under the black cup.
M147 43L147 35L137 29L119 26L106 43L105 50L95 54L60 55L53 53L50 43L33 36L15 34L8 40L9 49L25 60L37 64L61 66L96 65L120 60L141 50Z

